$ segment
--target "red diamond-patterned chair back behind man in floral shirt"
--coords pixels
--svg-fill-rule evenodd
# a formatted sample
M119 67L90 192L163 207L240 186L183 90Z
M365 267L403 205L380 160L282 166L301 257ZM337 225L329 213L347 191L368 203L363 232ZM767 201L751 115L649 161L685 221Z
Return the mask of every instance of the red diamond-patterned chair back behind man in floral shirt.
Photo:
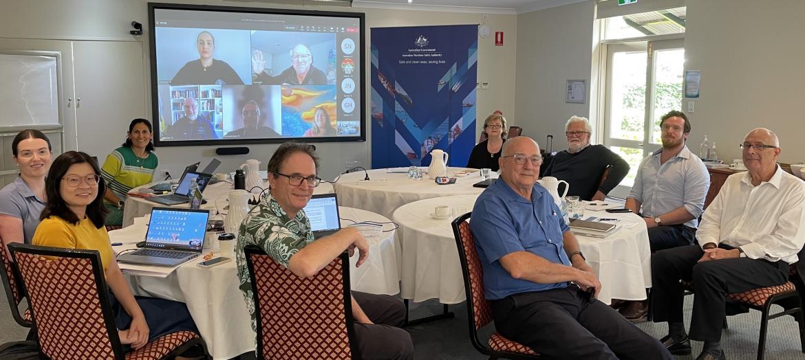
M341 254L301 278L262 248L244 248L257 315L261 359L357 358L349 293L349 257Z

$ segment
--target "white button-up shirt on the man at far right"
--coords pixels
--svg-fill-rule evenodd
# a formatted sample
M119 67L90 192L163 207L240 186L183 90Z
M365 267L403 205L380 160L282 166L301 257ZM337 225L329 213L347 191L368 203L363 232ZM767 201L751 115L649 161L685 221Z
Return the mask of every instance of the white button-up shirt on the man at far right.
M752 185L749 172L732 174L704 211L700 245L741 247L751 259L797 261L805 245L805 182L780 166L768 182Z

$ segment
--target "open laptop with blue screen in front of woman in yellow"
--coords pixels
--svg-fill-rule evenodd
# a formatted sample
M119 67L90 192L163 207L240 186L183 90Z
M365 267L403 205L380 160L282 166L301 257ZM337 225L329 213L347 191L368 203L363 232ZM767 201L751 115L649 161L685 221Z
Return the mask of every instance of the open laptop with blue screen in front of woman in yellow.
M118 256L129 264L175 266L201 255L209 211L155 207L151 209L145 246Z

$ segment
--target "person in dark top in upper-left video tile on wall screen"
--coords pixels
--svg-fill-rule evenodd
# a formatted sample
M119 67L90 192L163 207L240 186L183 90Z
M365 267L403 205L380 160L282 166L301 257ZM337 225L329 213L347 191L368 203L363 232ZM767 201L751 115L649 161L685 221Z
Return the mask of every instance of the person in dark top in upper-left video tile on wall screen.
M229 63L224 60L213 59L215 52L215 38L209 31L201 31L196 36L196 50L199 59L188 61L176 76L173 76L171 85L242 85L243 80L237 76Z

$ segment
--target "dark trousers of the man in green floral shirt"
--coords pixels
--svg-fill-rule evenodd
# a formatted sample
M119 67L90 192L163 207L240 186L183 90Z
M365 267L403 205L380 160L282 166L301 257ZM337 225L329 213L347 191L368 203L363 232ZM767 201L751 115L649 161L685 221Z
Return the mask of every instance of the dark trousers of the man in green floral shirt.
M400 329L405 322L405 305L388 295L353 291L352 296L374 324L354 323L358 352L361 358L412 359L414 342L411 334Z

